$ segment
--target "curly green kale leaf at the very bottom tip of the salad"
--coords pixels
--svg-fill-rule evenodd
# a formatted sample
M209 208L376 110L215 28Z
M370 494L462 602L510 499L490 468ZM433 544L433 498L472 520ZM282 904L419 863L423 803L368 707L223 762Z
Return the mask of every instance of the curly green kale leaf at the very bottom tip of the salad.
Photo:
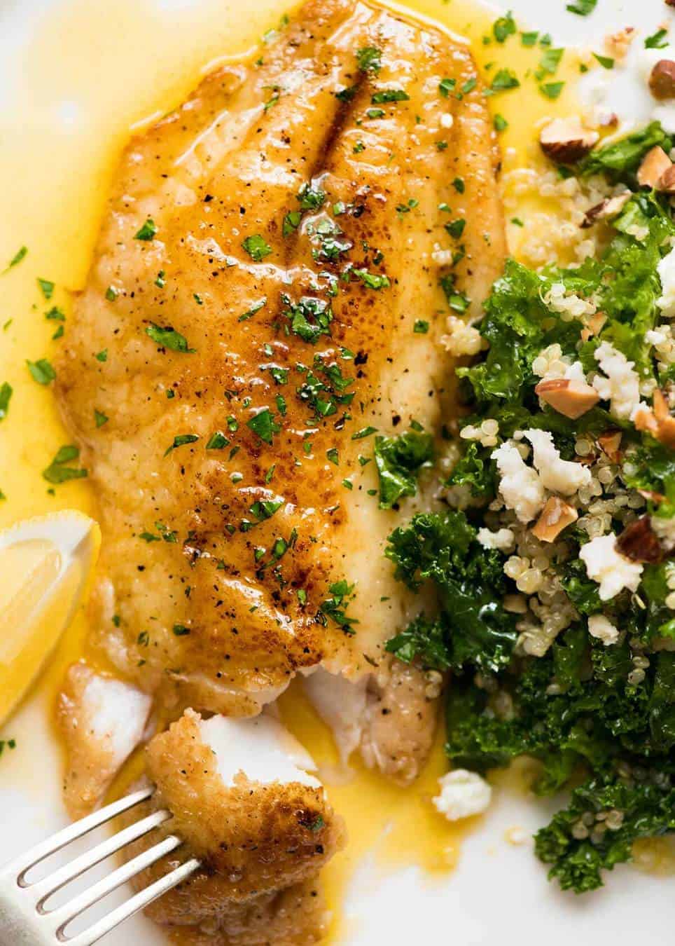
M662 787L663 786L663 787ZM610 819L612 829L594 831L605 825L597 815L618 812L622 820ZM582 818L593 823L584 831ZM603 885L602 871L632 860L632 843L639 837L653 837L675 831L675 790L668 778L662 785L654 781L624 783L613 777L591 779L572 793L567 808L554 815L550 824L537 832L535 850L550 864L549 878L563 890L585 893ZM575 836L576 835L576 836Z

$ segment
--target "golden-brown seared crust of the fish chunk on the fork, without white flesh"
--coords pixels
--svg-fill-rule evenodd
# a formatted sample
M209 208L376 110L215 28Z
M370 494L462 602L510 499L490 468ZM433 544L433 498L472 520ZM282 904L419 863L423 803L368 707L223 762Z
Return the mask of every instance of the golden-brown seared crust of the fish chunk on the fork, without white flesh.
M173 817L160 832L176 833L184 844L176 855L144 870L134 884L142 889L191 856L202 864L187 881L147 907L148 916L159 923L206 923L207 929L225 927L234 936L247 916L261 910L269 913L275 902L278 907L281 891L311 883L320 867L344 846L342 818L334 813L322 786L297 781L263 784L244 772L227 786L214 752L202 740L199 715L193 710L186 710L148 743L146 762L147 777L156 791L143 814L167 808ZM158 840L153 832L131 846L128 856Z

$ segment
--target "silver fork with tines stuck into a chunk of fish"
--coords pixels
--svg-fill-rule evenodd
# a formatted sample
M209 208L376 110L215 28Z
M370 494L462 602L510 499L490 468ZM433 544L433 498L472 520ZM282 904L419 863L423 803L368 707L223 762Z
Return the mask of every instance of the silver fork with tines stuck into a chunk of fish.
M69 946L91 946L123 920L127 920L167 890L180 884L199 867L199 861L195 858L186 861L116 907L108 916L97 920L83 933L73 937L67 935L67 927L81 913L182 844L180 837L169 834L164 840L134 857L123 867L113 870L108 877L77 894L70 901L54 909L45 905L61 887L75 880L90 867L95 867L106 857L163 824L171 815L162 809L113 834L42 880L35 883L26 880L28 871L46 857L106 824L116 815L129 812L151 797L153 791L154 789L149 787L114 801L112 805L76 821L42 844L26 851L6 867L0 868L0 943L3 946L58 946L61 943L67 943Z

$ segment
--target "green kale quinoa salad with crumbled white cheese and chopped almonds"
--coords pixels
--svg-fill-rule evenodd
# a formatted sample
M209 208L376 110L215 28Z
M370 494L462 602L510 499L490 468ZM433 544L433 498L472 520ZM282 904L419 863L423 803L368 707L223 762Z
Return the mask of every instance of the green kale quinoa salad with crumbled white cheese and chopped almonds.
M538 760L534 791L562 807L536 854L577 893L675 831L671 147L653 123L562 154L563 179L604 188L584 221L603 249L539 272L511 259L477 328L457 322L478 354L457 372L445 508L387 550L438 594L388 648L451 674L449 760L478 795L477 775Z

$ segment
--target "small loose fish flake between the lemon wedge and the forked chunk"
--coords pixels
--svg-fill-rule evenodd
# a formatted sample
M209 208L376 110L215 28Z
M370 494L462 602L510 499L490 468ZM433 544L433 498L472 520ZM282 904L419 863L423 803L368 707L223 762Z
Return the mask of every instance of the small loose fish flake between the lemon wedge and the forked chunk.
M67 762L63 796L73 818L89 814L142 741L151 699L130 683L73 664L59 698Z

